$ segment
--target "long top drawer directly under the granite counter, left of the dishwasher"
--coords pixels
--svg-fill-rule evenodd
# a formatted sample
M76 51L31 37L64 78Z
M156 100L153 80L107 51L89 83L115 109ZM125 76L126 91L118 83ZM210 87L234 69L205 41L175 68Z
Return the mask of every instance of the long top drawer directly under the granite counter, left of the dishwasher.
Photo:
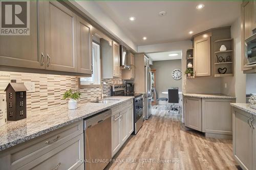
M80 121L26 141L3 153L0 158L0 169L3 167L8 167L8 169L22 167L82 133L83 122Z

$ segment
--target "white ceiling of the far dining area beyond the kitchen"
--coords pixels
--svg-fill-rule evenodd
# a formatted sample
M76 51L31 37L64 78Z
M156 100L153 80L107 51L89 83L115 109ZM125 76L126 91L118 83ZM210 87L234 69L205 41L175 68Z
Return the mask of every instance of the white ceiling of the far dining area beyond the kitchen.
M177 53L178 56L168 56L169 54ZM161 52L161 53L147 53L147 56L150 57L153 61L162 61L162 60L178 60L181 59L181 51L172 51L172 52Z

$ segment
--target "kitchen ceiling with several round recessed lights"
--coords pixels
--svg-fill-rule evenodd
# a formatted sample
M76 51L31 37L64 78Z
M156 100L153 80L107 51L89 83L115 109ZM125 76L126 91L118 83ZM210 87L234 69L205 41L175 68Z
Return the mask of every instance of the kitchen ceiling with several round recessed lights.
M189 40L207 29L230 26L240 15L241 1L97 1L137 45ZM204 4L203 9L196 9ZM166 11L165 16L159 16ZM129 17L136 17L130 21ZM142 40L146 36L147 40Z

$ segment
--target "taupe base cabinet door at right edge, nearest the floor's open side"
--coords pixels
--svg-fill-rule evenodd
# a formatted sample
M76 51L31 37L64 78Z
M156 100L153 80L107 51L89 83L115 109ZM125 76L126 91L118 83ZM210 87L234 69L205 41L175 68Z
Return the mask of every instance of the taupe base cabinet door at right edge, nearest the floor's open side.
M253 163L250 116L251 114L237 109L233 112L233 153L243 169L252 169Z

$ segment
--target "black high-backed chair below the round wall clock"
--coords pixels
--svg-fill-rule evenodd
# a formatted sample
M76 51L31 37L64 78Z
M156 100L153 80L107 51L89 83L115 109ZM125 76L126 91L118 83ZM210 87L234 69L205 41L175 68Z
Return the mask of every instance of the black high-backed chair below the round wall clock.
M176 108L175 104L179 103L179 88L178 87L172 87L171 89L168 89L168 103L174 104L173 107L170 106L168 109L168 112L170 111L179 111L179 107Z

